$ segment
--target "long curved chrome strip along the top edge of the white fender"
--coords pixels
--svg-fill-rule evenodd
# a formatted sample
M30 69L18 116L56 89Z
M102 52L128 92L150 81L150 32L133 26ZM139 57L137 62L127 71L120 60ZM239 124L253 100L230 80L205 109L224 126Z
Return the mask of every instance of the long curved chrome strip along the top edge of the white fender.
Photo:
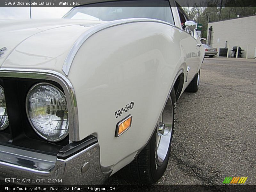
M75 42L75 44L70 49L68 56L66 57L66 60L64 62L64 65L62 67L63 72L68 76L68 72L70 70L71 64L75 58L76 52L79 50L79 48L82 46L82 44L92 35L95 33L102 31L104 29L114 27L117 25L123 25L128 23L135 23L135 22L155 22L155 23L163 23L165 25L170 25L172 27L175 27L180 30L180 28L176 27L175 25L172 25L168 22L156 20L156 19L122 19L122 20L115 20L115 21L109 21L105 23L100 23L90 29L88 29L86 32L84 32L83 35L81 35Z

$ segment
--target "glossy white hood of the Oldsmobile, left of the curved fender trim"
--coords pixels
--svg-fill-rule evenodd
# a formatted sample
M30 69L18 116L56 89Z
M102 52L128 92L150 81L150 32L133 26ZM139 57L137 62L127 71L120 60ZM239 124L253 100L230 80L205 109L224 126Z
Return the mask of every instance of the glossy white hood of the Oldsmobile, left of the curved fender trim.
M77 38L102 21L70 19L0 20L1 68L47 69L62 73Z

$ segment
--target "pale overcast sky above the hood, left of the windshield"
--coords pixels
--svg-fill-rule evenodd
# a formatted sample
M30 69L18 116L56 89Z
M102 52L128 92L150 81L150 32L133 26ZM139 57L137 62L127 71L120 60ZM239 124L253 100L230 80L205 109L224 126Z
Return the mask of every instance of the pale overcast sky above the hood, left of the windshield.
M61 18L72 7L31 7L32 19ZM29 19L29 7L0 7L0 19Z

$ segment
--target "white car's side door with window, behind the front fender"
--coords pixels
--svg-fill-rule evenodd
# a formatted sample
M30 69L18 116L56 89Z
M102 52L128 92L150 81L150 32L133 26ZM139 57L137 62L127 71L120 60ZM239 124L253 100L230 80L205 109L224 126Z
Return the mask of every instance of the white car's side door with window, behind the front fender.
M176 5L176 14L177 18L175 18L175 25L182 30L181 39L180 39L180 46L184 52L185 63L187 66L187 71L185 74L185 86L187 86L193 77L196 75L199 67L200 62L200 42L198 40L198 36L196 34L196 30L193 31L185 31L185 22L188 21L188 16L183 11L183 9L175 2Z

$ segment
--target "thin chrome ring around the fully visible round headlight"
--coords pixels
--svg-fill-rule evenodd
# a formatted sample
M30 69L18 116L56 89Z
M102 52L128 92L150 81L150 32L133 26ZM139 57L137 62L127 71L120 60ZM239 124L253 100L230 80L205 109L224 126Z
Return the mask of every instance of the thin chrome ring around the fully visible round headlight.
M28 99L29 99L29 94L30 94L30 92L31 92L36 86L38 86L38 85L48 85L48 86L54 87L55 89L57 89L57 90L62 94L62 96L64 96L64 98L65 98L65 100L66 100L66 102L67 102L67 97L65 96L65 94L60 90L60 88L58 88L58 87L55 86L54 84L46 83L46 82L37 83L37 84L33 85L33 86L29 89L29 91L28 91L28 93L27 93L26 101L25 101L25 107L26 107L26 113L27 113L28 121L29 121L31 127L33 128L33 130L37 133L37 135L38 135L39 137L43 138L44 140L51 141L51 142L58 142L58 141L61 141L61 140L63 140L64 138L66 138L67 135L69 134L69 127L68 127L68 129L67 129L67 132L66 132L64 135L62 135L61 137L59 137L58 139L49 139L49 138L45 137L44 135L42 135L42 134L35 128L35 126L33 125L33 123L31 122L31 118L30 118L29 112L28 112L28 102L29 102ZM68 124L69 124L69 120L68 120Z

